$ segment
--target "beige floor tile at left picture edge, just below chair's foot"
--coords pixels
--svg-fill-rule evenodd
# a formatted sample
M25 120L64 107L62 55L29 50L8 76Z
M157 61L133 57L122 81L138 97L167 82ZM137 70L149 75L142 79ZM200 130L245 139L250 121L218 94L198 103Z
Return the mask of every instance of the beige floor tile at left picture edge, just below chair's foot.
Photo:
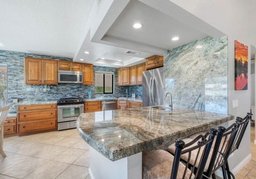
M8 157L4 157L0 159L0 173L3 171L6 171L7 169L13 167L14 165L17 165L24 160L28 159L29 156L20 155L20 154L12 154Z

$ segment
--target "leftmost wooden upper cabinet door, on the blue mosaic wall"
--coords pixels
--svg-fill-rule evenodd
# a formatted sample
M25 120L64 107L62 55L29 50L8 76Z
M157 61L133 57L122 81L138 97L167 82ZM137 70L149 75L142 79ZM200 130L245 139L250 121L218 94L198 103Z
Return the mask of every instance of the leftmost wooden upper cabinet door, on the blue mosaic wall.
M42 60L24 58L24 83L42 84Z

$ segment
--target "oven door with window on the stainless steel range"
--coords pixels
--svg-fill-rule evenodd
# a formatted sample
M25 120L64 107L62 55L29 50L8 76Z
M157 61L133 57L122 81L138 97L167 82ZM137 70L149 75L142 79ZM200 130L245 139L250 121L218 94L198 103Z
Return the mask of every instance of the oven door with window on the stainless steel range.
M75 121L84 113L84 104L58 106L58 122Z

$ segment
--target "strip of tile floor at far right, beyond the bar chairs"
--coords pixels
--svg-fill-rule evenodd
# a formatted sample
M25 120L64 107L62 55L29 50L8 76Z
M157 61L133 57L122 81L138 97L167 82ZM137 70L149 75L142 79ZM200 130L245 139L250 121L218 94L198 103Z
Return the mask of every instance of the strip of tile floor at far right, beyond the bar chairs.
M256 144L254 144L255 126L251 123L251 160L236 174L236 179L256 179Z

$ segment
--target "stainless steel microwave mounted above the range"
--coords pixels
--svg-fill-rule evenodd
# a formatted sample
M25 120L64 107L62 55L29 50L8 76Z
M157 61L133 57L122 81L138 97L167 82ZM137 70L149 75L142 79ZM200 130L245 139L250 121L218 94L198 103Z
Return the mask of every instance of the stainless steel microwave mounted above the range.
M83 72L58 70L58 83L83 83Z

